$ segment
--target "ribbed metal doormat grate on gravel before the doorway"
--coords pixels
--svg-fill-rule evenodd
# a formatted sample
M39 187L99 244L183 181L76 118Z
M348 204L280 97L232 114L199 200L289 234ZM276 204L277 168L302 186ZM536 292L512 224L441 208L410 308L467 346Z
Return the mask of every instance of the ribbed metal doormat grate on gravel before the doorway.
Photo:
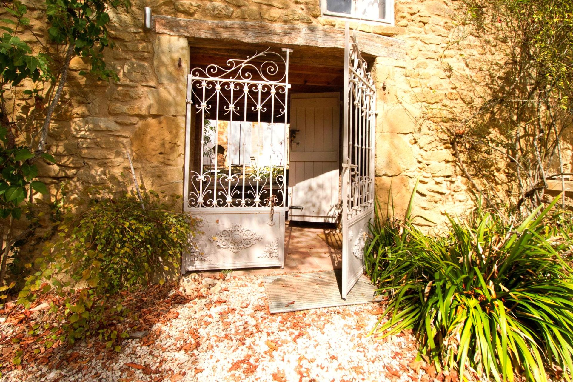
M367 304L382 299L380 296L373 297L374 285L364 275L360 276L346 300L340 297L340 271L282 274L265 276L263 279L270 313Z

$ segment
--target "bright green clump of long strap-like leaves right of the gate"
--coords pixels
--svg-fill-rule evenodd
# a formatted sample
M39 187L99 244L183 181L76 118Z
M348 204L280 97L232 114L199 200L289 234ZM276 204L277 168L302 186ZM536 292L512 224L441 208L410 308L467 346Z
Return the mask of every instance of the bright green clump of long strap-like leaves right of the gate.
M476 210L439 237L412 225L411 203L401 222L376 214L367 271L390 300L372 332L414 330L419 355L460 377L570 380L573 239L570 220L549 216L557 201L519 226Z

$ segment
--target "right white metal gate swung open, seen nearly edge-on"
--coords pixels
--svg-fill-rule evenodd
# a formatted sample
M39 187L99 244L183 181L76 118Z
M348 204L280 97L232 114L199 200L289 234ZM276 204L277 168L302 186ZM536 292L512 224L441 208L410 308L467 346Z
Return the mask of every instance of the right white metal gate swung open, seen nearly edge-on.
M376 88L346 23L342 176L342 298L364 271L368 220L374 216Z

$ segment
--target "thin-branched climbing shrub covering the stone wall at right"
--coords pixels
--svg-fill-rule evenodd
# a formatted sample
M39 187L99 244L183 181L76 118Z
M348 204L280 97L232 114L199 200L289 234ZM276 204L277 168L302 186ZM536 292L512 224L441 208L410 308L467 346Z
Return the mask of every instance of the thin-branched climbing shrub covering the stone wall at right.
M564 159L572 141L573 3L464 0L453 22L446 51L462 65L442 64L463 104L444 103L434 117L490 207L531 211L546 200L548 180L573 172ZM481 54L467 54L472 49Z

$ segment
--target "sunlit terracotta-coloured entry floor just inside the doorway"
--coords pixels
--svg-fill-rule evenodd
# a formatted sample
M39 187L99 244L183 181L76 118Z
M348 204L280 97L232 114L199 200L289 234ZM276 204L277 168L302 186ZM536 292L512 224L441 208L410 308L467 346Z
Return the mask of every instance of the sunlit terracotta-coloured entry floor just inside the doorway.
M233 275L272 275L329 271L342 264L342 234L333 229L300 227L286 222L285 267L234 270ZM328 244L327 244L328 242ZM204 275L218 274L203 272Z

